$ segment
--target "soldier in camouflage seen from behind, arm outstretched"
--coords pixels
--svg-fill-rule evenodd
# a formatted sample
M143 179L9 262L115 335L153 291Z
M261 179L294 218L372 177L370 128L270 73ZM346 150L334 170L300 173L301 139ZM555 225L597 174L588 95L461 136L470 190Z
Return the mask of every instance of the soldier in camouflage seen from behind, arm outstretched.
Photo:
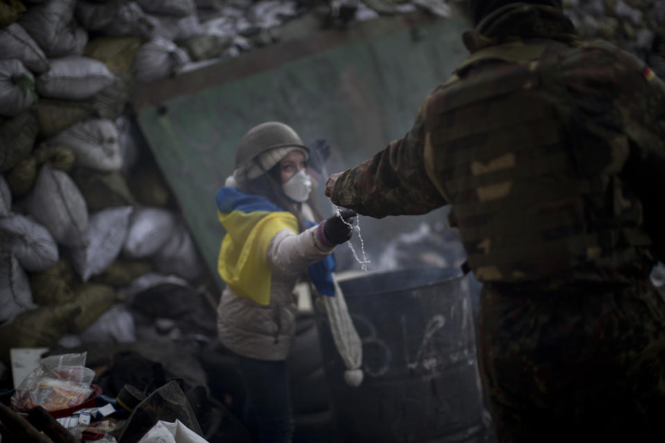
M664 441L665 84L558 0L471 1L470 55L411 130L326 195L450 222L484 282L481 377L500 442Z

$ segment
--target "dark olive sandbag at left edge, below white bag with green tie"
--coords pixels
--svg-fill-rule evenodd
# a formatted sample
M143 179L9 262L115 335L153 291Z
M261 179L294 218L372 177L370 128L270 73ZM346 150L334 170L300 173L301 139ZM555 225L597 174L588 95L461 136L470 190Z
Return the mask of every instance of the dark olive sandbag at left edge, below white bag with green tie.
M37 118L25 111L0 124L0 172L17 165L33 150L37 138Z

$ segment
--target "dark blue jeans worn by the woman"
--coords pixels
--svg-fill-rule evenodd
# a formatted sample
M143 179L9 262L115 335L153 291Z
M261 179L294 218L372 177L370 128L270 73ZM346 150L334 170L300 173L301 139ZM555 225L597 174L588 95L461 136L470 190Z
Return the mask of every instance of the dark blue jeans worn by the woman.
M290 443L293 418L286 361L239 358L247 383L245 426L258 435L260 443Z

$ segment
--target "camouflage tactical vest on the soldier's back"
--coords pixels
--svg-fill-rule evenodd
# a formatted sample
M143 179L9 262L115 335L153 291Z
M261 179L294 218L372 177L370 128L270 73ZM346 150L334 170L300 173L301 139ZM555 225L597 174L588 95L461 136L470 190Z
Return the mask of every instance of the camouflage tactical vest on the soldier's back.
M560 45L481 50L427 102L427 174L481 281L618 270L650 245L619 176L628 138L578 109L557 57L577 49Z

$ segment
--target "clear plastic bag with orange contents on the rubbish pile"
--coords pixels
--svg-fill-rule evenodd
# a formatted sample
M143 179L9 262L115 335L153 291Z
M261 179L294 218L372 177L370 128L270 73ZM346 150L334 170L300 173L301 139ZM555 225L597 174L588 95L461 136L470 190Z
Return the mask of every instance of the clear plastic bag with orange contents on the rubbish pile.
M42 406L46 410L60 410L82 404L94 392L90 385L95 371L85 367L86 355L83 352L42 359L39 368L12 395L12 408L30 410Z

